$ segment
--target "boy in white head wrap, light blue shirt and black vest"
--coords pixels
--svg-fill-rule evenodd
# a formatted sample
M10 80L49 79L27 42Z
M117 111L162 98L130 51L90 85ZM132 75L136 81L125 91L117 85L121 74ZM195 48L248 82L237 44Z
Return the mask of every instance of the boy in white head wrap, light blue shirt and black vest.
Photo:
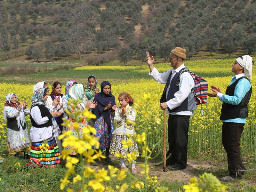
M222 144L228 156L229 174L220 178L220 181L241 179L246 173L240 153L240 138L244 130L246 117L248 117L248 103L252 94L252 57L244 55L238 57L232 65L232 77L223 94L219 87L211 85L213 92L206 92L210 97L218 97L223 103L220 120L222 124ZM246 77L248 76L248 78Z

